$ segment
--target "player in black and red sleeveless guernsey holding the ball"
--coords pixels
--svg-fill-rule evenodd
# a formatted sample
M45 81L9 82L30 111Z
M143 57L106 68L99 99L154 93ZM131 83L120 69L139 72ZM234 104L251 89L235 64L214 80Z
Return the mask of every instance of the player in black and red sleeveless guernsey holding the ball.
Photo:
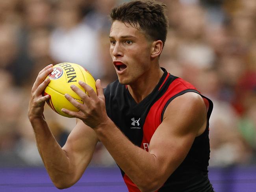
M97 94L80 82L88 95L70 86L84 101L65 94L79 112L66 144L52 136L42 92L52 72L46 66L33 85L29 119L39 153L58 188L76 183L101 141L121 169L131 192L211 192L208 127L212 102L190 83L160 68L159 57L167 33L165 6L153 0L133 1L112 9L110 55L118 80Z

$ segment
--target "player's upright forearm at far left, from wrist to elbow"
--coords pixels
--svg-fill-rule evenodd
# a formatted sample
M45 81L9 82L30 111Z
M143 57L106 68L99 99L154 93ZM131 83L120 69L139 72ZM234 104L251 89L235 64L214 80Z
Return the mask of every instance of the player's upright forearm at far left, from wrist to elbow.
M70 182L71 180L68 177L72 174L69 158L52 135L44 118L30 119L30 122L33 127L37 148L46 170L54 185L58 188L63 188L63 183L66 184L67 181Z

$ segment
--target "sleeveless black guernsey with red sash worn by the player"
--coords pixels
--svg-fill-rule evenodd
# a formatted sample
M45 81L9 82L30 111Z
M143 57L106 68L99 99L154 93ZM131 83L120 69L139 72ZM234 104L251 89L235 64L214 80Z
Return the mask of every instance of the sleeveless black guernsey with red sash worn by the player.
M106 111L117 127L143 150L148 151L150 139L163 119L167 105L186 92L198 92L190 83L172 76L165 69L158 85L141 102L136 103L126 85L114 81L104 89ZM202 96L202 95L201 95ZM196 137L189 153L178 168L169 176L158 192L212 192L208 179L208 161L210 159L209 118L213 103L202 96L208 110L208 123L204 133ZM170 125L171 129L171 125ZM124 149L125 150L125 149ZM121 170L129 192L140 190ZM150 175L148 175L150 176Z

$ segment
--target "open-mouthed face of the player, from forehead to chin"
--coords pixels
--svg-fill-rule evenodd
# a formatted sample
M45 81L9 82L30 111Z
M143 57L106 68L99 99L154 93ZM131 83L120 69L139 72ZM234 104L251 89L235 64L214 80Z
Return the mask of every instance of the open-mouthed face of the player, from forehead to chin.
M150 69L151 42L142 31L116 20L109 40L109 52L119 82L128 85L143 80L143 74Z

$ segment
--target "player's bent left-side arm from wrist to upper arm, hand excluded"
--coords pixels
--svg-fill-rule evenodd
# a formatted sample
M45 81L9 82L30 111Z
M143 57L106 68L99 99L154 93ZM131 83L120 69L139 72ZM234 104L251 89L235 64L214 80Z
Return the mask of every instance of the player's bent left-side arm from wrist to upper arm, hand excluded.
M57 188L74 185L93 156L98 142L95 132L79 120L61 148L45 120L33 120L32 126L38 151L54 185Z

